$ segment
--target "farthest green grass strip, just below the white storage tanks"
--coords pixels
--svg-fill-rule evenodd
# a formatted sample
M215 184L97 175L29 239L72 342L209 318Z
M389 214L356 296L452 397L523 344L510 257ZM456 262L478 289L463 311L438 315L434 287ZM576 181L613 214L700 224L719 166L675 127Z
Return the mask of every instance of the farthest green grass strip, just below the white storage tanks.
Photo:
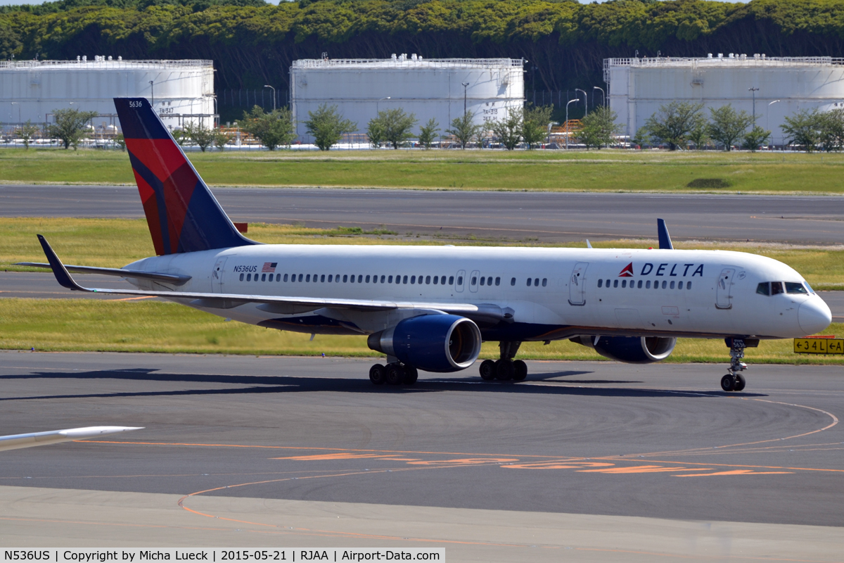
M214 186L590 192L844 193L844 155L372 150L190 153ZM0 182L133 184L126 153L0 149Z

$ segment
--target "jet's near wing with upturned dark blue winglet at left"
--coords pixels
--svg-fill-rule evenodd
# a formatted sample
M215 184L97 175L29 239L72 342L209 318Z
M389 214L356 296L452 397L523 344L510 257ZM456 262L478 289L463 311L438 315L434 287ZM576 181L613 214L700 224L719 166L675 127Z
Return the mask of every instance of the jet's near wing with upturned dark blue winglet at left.
M295 297L275 295L246 295L226 293L198 293L187 291L147 291L147 290L106 290L86 288L73 280L68 268L58 259L50 243L42 235L38 235L41 247L44 249L56 280L62 286L76 291L89 293L107 293L116 295L141 295L149 297L163 297L165 299L188 300L188 305L208 307L213 309L231 309L247 303L259 303L264 311L279 314L313 311L322 307L335 309L354 309L357 311L389 311L392 309L428 309L444 311L467 317L484 317L484 319L502 319L506 313L495 305L473 305L471 303L438 303L418 301L387 301L362 299L327 299L321 297Z

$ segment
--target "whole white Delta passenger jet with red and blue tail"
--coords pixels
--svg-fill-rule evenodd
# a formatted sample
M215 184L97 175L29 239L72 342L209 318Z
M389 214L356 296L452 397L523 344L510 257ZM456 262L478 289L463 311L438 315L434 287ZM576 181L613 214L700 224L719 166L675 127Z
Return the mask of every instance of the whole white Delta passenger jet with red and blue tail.
M830 309L787 265L745 252L473 246L266 245L241 235L144 98L116 98L157 256L125 268L65 266L39 235L59 284L150 295L260 327L360 334L387 365L375 384L418 370L461 371L482 341L500 343L484 380L521 381L522 342L569 338L622 362L664 360L677 338L719 338L741 391L745 347L828 327ZM318 163L315 163L318 165ZM78 285L69 272L138 290Z

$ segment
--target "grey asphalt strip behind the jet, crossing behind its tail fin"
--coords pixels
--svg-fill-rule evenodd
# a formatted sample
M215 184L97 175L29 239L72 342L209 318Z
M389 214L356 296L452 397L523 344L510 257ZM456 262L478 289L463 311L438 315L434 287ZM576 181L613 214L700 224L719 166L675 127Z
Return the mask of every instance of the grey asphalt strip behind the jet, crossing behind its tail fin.
M656 238L844 244L844 198L214 188L235 221L525 241ZM0 217L143 217L136 187L0 186Z

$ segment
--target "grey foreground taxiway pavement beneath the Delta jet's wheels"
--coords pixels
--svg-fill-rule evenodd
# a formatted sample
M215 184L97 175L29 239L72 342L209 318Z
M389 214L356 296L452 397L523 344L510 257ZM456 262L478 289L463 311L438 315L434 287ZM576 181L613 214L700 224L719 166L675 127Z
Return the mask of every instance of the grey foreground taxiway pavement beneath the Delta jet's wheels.
M713 365L528 362L531 375L517 384L483 383L473 367L422 374L414 387L375 387L365 375L370 364L0 352L3 434L146 427L95 443L0 454L0 500L24 498L0 502L0 519L7 522L0 529L13 529L5 533L18 539L52 530L83 541L93 528L73 524L84 519L73 508L83 511L96 497L94 504L105 502L112 510L120 506L116 499L135 499L144 510L164 511L167 522L181 527L182 545L203 538L239 545L237 536L213 532L219 518L235 512L237 528L255 531L257 542L268 541L258 532L284 521L288 545L318 544L320 538L376 545L419 539L414 547L443 539L445 522L458 514L487 514L496 526L506 524L506 514L519 514L510 529L491 534L511 547L488 560L528 560L531 545L556 542L562 549L579 541L524 525L541 515L560 526L586 522L576 515L589 515L592 532L609 526L613 541L628 547L635 542L625 530L645 522L637 518L668 528L671 522L709 522L693 528L716 536L716 530L745 529L719 522L745 522L760 526L754 529L773 542L782 539L778 526L827 527L807 528L821 535L801 535L801 541L814 537L812 549L828 549L837 539L841 554L840 367L751 366L747 391L728 394L717 390L723 370ZM106 502L80 492L85 490L114 495ZM22 515L40 505L25 499L49 491L51 523L26 520ZM146 518L144 510L133 512L137 522ZM316 512L333 518L317 518L321 535L300 529L296 519ZM427 516L408 519L421 513ZM448 528L458 544L479 533L463 524L479 522ZM354 530L368 535L348 535ZM109 533L138 539L159 532ZM656 529L651 533L663 537ZM0 542L11 545L3 534ZM760 553L760 545L751 551ZM480 549L447 548L446 554L467 555L459 560ZM696 547L676 549L668 551L678 555ZM555 557L560 560L559 552Z

